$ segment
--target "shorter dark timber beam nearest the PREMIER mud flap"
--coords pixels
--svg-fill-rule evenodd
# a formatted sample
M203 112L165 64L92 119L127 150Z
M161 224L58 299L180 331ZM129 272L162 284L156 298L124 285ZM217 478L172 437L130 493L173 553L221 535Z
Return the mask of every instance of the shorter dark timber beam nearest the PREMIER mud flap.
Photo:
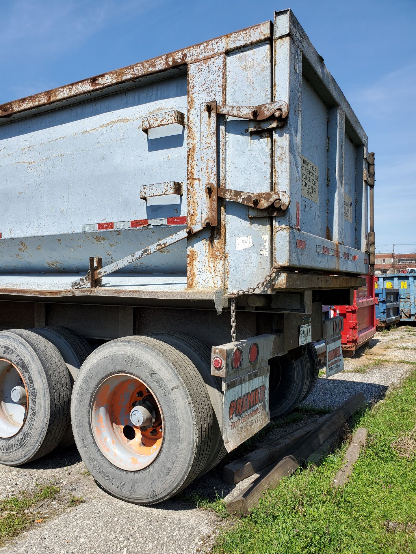
M322 417L314 419L311 423L304 425L300 429L297 429L293 433L289 433L270 444L257 448L238 460L231 461L222 470L222 479L226 483L235 485L247 479L247 477L258 473L268 465L275 463L279 458L285 455L298 440L306 437L310 431L316 429L316 427L328 417L329 414L325 414Z

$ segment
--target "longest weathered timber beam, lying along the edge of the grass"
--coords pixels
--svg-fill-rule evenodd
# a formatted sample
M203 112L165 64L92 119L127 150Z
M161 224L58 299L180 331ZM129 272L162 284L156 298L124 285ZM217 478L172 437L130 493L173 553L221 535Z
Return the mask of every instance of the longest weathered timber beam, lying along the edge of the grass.
M257 504L265 490L276 486L283 476L291 475L311 456L351 415L362 406L364 394L358 393L350 397L339 408L334 410L316 429L312 429L306 437L300 440L292 452L267 468L257 479L248 485L226 504L229 514L237 517L247 515L248 511Z

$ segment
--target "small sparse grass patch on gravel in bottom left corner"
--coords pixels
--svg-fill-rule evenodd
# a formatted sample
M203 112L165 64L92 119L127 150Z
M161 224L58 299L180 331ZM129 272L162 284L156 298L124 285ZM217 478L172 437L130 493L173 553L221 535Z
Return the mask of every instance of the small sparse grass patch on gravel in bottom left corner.
M0 500L0 544L6 538L18 535L39 519L37 512L40 507L45 501L54 500L58 493L57 486L44 485L39 486L33 494L23 492Z

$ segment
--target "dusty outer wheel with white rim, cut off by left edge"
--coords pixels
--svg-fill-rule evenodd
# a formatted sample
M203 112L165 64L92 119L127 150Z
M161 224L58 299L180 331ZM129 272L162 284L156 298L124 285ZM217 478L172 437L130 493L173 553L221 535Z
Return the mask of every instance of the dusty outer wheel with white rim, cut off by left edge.
M0 359L0 394L9 394L4 379L16 371L28 398L21 427L14 434L2 432L0 463L22 465L48 454L62 440L69 423L69 374L58 349L32 331L1 331ZM2 421L6 405L0 403Z

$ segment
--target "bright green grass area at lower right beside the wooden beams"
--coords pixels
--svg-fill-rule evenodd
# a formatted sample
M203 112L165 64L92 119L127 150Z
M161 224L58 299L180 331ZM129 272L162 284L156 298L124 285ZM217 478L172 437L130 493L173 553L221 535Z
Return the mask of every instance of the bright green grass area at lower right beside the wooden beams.
M342 490L331 483L347 449L267 491L251 514L220 534L214 552L256 554L415 553L416 455L400 455L416 424L416 371L356 417L368 440ZM397 524L386 530L385 522ZM406 527L406 525L408 526Z

